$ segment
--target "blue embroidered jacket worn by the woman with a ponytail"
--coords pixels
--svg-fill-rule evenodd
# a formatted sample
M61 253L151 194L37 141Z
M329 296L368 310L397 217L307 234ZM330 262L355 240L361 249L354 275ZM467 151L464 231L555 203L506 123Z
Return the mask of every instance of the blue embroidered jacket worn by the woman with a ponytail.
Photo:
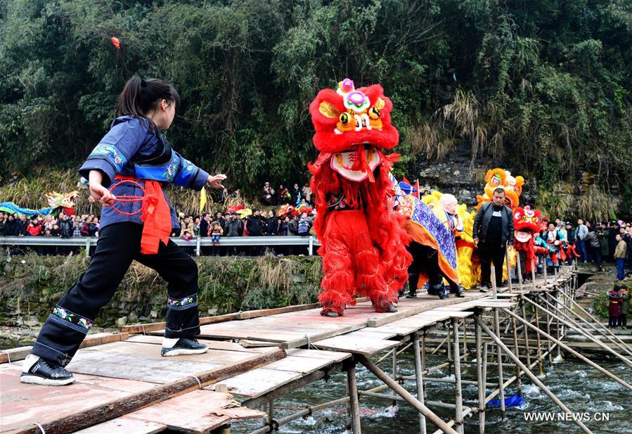
M160 181L163 187L174 184L198 191L209 177L207 172L173 151L162 134L149 128L148 120L130 116L117 117L112 122L110 131L88 155L79 173L88 179L91 170L103 172L103 186L109 188L115 196L143 196L143 191L138 186L129 181L115 180L117 174L154 179ZM144 186L142 181L140 184ZM140 210L141 205L140 201L115 202L115 207L124 212ZM169 210L172 227L179 228L176 212L170 203ZM111 207L103 207L100 222L100 229L120 222L143 224L140 212L136 215L123 215Z

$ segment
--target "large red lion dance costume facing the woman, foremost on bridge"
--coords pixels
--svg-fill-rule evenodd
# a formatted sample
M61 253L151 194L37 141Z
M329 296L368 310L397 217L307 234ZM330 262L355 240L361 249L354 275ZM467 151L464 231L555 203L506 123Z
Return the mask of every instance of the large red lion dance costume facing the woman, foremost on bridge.
M399 155L382 153L399 141L391 109L380 85L355 89L350 79L337 91L318 92L309 106L320 151L308 167L322 243L321 315L342 315L356 294L367 295L375 312L395 312L408 279L408 236L387 198L389 170Z

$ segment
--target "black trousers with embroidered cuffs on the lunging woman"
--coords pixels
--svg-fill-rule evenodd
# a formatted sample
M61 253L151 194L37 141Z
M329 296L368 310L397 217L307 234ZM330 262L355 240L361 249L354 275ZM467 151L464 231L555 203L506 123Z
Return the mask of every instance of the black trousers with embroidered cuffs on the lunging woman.
M134 260L155 269L167 281L165 337L200 334L198 265L171 240L167 245L160 243L155 255L142 254L142 231L143 226L129 222L110 224L100 231L88 269L53 308L32 354L67 365Z

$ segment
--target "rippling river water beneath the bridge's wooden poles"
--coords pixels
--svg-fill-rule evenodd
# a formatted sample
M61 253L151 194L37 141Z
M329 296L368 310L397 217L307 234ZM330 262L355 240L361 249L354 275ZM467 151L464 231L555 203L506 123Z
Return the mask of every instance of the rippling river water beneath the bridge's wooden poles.
M433 366L444 362L445 356L431 356L427 359L427 366ZM608 369L619 378L632 383L632 368L623 363L599 361L602 367ZM399 374L414 374L413 357L410 354L401 355L398 359ZM387 357L380 366L389 372L390 358ZM537 366L536 366L537 369ZM496 381L495 370L488 364L488 381ZM358 366L358 387L368 390L380 385L373 374ZM505 381L513 375L513 371L505 369ZM430 374L436 378L453 378L449 376L447 369L434 371ZM461 378L476 381L475 366L465 368ZM541 381L566 404L571 411L576 413L588 413L589 419L582 421L595 434L631 434L632 433L632 392L619 383L600 374L588 364L576 359L565 359L562 362L545 365L545 373L539 377ZM414 381L406 381L405 387L415 395ZM425 383L428 400L440 400L454 403L454 385L450 383ZM328 383L318 381L302 389L286 395L283 399L274 402L275 419L288 416L297 409L306 405L328 402L345 396L346 374L337 373L330 378ZM487 394L492 390L488 388ZM388 390L384 393L389 392ZM505 390L505 397L516 393L516 385L510 385ZM532 434L532 433L580 433L579 426L572 421L526 421L525 414L537 414L541 412L553 413L557 417L560 409L542 392L536 385L531 384L528 378L523 376L522 395L524 404L521 407L507 409L505 420L501 419L499 409L488 407L486 409L486 433L489 434ZM475 406L477 400L477 388L475 385L464 385L463 404ZM393 409L392 402L375 398L361 397L361 424L363 434L413 434L419 432L418 413L405 402L399 402L398 408ZM307 419L298 419L288 425L279 428L279 433L297 434L342 434L345 432L344 424L346 414L344 406L318 412ZM437 410L437 409L433 409ZM453 410L438 409L435 411L444 421L454 416ZM596 414L596 415L595 415ZM609 418L609 420L605 420ZM478 433L478 416L475 414L465 419L465 433ZM232 433L248 433L258 428L260 422L233 423ZM434 432L434 426L428 423L428 433Z

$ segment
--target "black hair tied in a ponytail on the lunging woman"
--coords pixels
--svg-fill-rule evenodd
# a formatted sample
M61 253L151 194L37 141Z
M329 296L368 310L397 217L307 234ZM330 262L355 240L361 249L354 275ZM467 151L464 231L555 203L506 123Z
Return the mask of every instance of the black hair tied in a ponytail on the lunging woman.
M156 108L163 99L169 104L176 104L176 107L180 105L178 91L171 84L157 78L143 79L134 75L127 80L119 95L116 115L146 117L146 113Z

